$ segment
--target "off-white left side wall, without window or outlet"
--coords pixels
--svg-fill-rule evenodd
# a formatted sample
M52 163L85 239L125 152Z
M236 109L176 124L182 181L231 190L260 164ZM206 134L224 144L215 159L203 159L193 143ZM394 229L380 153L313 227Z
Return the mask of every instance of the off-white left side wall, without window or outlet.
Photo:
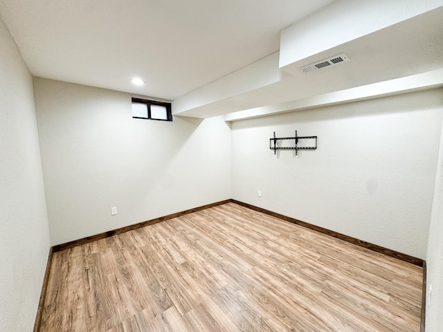
M0 330L32 331L50 247L33 79L0 19Z

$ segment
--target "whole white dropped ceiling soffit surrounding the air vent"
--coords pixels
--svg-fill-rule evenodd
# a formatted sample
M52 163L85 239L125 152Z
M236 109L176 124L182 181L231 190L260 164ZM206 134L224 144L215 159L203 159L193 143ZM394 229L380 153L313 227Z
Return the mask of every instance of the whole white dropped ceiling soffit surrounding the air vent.
M300 71L341 53L350 62ZM275 55L174 100L174 114L233 121L443 86L443 0L336 0L282 30Z

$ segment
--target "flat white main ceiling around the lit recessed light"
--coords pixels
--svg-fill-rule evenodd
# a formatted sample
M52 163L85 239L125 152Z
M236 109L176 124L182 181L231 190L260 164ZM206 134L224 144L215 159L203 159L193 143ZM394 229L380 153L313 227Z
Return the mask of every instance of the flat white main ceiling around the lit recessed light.
M282 28L331 2L0 0L0 17L35 76L174 100L274 53Z

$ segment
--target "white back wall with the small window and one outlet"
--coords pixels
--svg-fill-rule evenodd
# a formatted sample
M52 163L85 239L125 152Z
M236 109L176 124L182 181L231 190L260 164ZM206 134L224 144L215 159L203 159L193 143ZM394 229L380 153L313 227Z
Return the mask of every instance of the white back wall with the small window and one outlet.
M53 245L230 199L223 117L133 119L128 93L34 84Z

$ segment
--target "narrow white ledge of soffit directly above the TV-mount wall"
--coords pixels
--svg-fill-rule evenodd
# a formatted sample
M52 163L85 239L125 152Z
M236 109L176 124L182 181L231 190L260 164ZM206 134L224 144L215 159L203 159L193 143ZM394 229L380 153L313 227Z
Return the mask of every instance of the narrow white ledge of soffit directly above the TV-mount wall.
M352 89L324 93L311 98L303 98L300 100L273 104L266 107L257 107L255 109L228 113L224 116L224 120L226 122L233 122L263 116L272 116L280 113L301 111L303 109L314 109L332 106L335 104L345 104L348 102L383 98L389 95L400 95L403 93L436 89L440 87L443 87L443 69L438 69L428 73L410 75L408 77L401 77L395 80L358 86Z

